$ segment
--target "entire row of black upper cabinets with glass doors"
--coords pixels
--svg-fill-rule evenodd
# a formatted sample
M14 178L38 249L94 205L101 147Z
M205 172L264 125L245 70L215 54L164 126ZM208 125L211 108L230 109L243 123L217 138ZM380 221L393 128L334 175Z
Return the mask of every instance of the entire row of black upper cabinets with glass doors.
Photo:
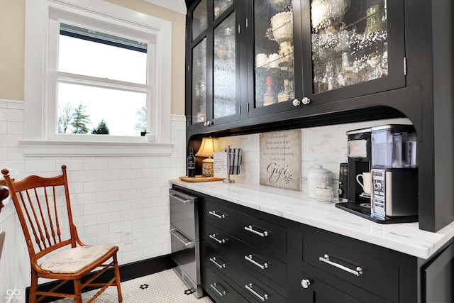
M404 20L403 0L195 1L189 131L390 106L367 96L406 87Z

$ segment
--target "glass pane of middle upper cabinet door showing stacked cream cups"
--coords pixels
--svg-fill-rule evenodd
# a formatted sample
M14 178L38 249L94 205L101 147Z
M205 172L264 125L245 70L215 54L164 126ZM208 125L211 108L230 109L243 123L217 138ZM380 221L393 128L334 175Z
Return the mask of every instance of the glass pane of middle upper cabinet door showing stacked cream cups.
M254 109L294 99L292 0L255 0Z

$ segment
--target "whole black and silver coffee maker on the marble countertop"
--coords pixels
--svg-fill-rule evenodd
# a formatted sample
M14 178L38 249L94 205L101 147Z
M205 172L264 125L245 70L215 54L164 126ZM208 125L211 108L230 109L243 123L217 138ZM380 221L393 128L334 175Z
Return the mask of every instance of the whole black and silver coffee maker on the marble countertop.
M345 134L348 138L348 202L337 203L336 207L382 224L418 221L414 127L392 124ZM365 191L357 178L366 174L370 174L367 178L370 191Z

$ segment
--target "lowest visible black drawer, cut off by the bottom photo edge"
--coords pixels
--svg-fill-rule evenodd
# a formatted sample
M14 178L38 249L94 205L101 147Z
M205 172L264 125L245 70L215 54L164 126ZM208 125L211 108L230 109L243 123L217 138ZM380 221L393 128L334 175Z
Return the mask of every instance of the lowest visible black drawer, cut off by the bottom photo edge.
M206 268L206 281L204 283L206 292L216 299L216 302L240 303L248 302L236 290L212 270Z

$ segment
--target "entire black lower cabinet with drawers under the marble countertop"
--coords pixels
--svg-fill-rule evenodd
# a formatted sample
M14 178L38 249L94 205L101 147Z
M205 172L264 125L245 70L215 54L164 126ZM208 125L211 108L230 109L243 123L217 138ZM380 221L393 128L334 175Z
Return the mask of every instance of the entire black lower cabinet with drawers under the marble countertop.
M453 241L423 260L177 188L199 197L202 286L215 302L454 302Z

